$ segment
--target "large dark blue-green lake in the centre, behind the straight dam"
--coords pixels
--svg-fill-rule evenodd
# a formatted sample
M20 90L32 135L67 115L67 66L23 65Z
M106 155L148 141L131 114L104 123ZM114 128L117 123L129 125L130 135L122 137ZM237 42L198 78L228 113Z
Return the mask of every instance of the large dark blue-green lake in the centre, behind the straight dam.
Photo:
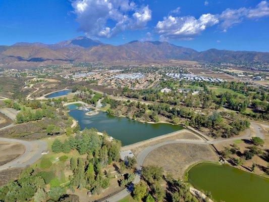
M69 115L78 121L81 130L96 128L98 131L105 131L113 138L121 140L122 145L133 144L183 129L182 126L172 124L141 123L124 117L111 116L100 111L97 115L87 116L85 115L87 112L74 110L74 105L68 107L71 110Z

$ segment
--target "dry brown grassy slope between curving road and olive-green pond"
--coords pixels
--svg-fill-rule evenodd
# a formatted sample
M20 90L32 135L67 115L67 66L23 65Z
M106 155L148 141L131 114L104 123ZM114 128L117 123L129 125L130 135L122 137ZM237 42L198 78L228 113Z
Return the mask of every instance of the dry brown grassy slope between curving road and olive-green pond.
M217 162L219 158L209 147L203 144L173 143L161 146L149 153L143 166L163 167L165 173L175 178L183 177L185 170L200 161Z

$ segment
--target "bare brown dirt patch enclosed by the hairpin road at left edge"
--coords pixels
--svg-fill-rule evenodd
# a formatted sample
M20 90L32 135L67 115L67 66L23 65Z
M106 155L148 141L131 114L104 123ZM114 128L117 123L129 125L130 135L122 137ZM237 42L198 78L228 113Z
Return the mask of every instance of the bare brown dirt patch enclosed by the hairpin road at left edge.
M0 141L0 166L18 158L24 151L25 147L22 144Z

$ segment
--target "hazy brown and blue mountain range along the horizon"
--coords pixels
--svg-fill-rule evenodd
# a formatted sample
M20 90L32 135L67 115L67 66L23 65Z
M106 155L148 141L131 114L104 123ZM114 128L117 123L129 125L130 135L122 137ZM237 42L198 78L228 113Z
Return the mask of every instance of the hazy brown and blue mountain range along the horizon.
M87 37L77 37L56 44L19 42L0 46L1 64L65 64L112 61L161 62L187 60L198 62L269 63L269 53L192 48L160 41L131 41L123 45L104 44Z

